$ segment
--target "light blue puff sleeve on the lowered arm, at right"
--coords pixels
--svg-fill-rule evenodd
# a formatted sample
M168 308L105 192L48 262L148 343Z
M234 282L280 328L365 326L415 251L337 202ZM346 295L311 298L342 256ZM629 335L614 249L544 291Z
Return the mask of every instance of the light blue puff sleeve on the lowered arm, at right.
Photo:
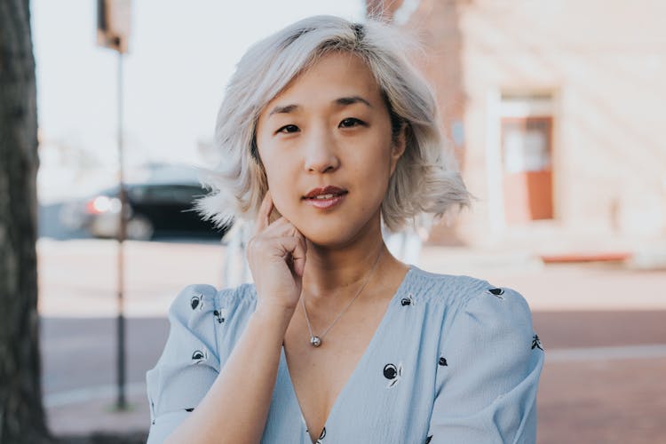
M430 444L534 444L543 348L525 299L488 286L442 333Z

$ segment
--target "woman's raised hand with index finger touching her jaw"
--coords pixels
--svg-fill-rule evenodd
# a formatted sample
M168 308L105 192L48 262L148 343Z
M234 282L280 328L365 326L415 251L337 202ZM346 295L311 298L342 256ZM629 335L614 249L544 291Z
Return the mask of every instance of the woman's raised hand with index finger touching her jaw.
M270 222L273 211L267 191L259 208L254 236L248 242L250 271L257 287L257 309L292 311L300 298L305 270L305 237L284 217Z

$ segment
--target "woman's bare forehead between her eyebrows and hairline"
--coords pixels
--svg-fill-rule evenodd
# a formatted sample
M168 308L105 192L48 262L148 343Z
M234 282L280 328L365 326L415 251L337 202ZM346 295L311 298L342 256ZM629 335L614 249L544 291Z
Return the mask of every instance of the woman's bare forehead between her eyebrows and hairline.
M352 96L366 99L373 107L382 103L379 85L363 59L351 52L330 52L292 79L262 115L276 106L314 107Z

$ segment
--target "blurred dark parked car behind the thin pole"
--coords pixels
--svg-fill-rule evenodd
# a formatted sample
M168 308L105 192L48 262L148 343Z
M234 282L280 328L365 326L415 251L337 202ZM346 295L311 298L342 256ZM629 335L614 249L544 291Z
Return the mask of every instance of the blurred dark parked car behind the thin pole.
M116 237L119 229L118 186L65 206L60 219L95 237ZM222 237L229 226L215 228L194 210L194 199L206 194L198 183L130 183L127 192L127 238L149 240L155 234Z

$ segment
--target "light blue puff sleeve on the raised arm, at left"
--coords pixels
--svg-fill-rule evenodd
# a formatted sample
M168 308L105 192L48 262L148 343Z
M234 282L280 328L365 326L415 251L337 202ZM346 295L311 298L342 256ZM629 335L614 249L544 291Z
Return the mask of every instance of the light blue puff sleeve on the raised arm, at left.
M151 426L148 444L161 443L202 400L218 377L217 290L190 285L170 306L162 356L146 374Z

